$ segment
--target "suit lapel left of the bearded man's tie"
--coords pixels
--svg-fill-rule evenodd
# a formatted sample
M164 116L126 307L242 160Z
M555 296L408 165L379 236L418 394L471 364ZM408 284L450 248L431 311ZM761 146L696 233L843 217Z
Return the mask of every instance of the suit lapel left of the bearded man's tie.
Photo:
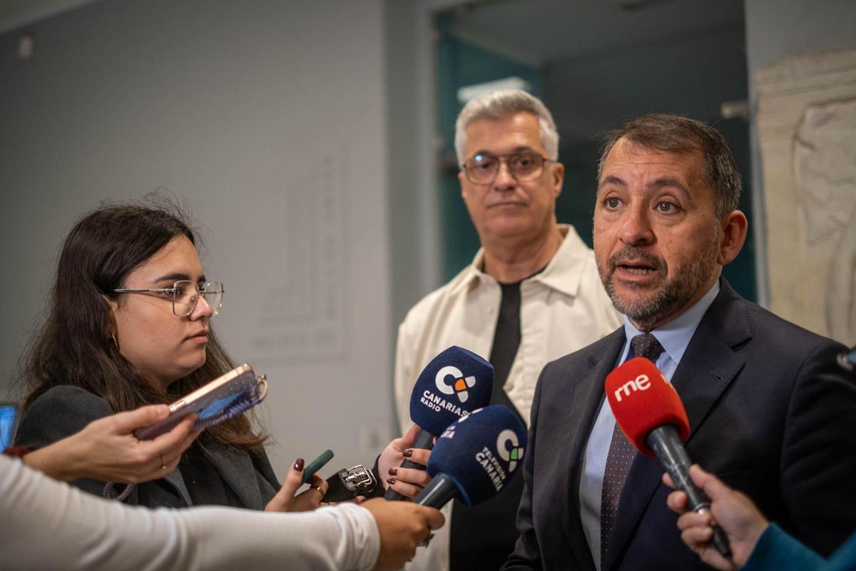
M603 339L603 349L589 355L589 369L583 374L568 371L571 393L568 401L568 431L574 435L568 447L568 464L562 470L563 480L559 490L568 490L568 509L562 510L562 527L568 536L568 543L574 550L578 562L591 562L591 550L586 542L580 519L580 478L586 455L586 443L597 418L597 411L603 403L603 383L606 376L615 368L615 361L624 346L624 328L616 330ZM575 378L576 377L576 378Z

